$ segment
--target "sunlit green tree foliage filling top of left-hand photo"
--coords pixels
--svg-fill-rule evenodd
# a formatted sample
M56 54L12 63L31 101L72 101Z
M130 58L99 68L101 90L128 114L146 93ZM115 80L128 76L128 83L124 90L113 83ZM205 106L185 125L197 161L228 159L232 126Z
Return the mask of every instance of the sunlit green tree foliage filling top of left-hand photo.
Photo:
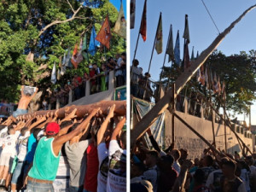
M70 0L74 10L79 9L84 1ZM20 96L20 84L37 85L40 90L55 88L72 79L74 73L83 75L88 72L88 61L82 61L77 70L67 69L67 74L57 84L50 83L51 69L59 57L73 51L80 38L87 33L90 42L90 30L94 24L96 32L102 20L109 15L113 28L118 16L117 9L108 0L87 1L79 10L78 17L65 23L50 26L38 37L39 32L55 20L71 18L73 11L66 0L4 0L0 2L0 99L17 102ZM29 52L34 54L33 61L26 61ZM90 55L89 62L101 65L109 56L125 51L125 39L113 34L111 49L98 49L95 56ZM106 56L106 57L105 57ZM41 65L46 68L38 70ZM44 75L47 73L48 75ZM39 78L38 78L39 77Z

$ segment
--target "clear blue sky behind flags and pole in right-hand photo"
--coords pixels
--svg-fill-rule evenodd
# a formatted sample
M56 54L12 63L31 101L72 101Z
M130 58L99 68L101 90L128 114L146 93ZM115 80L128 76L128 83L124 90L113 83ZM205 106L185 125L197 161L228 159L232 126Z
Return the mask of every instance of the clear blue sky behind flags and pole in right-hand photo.
M204 0L204 2L207 4L207 8L212 14L220 32L223 32L224 29L227 26L230 26L230 23L236 20L243 11L255 3L250 0ZM131 60L134 55L137 33L139 31L141 17L143 14L143 3L143 0L137 0L135 28L131 30ZM207 46L212 43L213 39L218 36L218 31L213 25L210 16L207 14L207 10L201 3L201 0L148 0L147 5L147 40L143 43L143 39L139 39L137 59L140 61L140 67L143 67L143 72L145 73L148 71L156 26L160 12L162 12L164 51L162 54L157 55L154 50L153 61L150 69L151 77L154 80L158 80L160 76L160 67L164 60L164 52L171 24L174 44L177 30L180 32L181 53L183 53L182 36L184 30L184 17L186 14L189 15L189 54L191 54L192 46L195 47L195 52L198 50L201 53L201 51L206 49ZM255 18L256 9L253 9L235 26L230 34L224 38L224 41L218 46L218 50L221 50L225 55L232 55L239 54L241 50L248 51L250 49L256 49ZM181 57L183 57L183 55L181 55ZM166 66L170 66L170 64L166 63ZM252 107L252 113L253 115L256 115L255 105ZM239 119L243 119L243 115L240 115ZM253 116L252 119L253 124L256 125L256 119L253 118Z

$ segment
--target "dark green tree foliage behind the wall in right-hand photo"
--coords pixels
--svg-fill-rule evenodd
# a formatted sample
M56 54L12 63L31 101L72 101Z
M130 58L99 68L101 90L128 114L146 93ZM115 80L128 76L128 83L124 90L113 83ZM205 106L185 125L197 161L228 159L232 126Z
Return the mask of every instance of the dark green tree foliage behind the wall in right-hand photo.
M240 55L226 56L219 51L215 51L209 56L204 66L216 72L221 82L225 82L226 87L226 108L236 113L249 113L249 105L256 99L256 51L250 50L249 53L241 51ZM193 65L193 64L192 64ZM171 74L171 81L175 82L180 74L177 67L165 67L163 73L163 84L167 84L167 79ZM201 90L207 97L209 90L197 82L196 78L186 84L187 96L191 91ZM221 107L221 98L215 94L212 95L212 102L217 108Z

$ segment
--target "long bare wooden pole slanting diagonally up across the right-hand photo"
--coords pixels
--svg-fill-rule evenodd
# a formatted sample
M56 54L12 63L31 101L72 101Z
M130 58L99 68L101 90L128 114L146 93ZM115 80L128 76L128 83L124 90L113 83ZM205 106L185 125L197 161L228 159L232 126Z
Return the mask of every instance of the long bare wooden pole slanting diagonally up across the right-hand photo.
M212 52L217 49L218 45L224 40L226 35L230 33L230 31L236 26L236 24L252 9L256 8L256 4L252 7L244 11L234 22L228 26L224 32L220 33L217 38L210 44L207 49L205 49L201 55L195 60L194 64L185 69L184 73L182 73L176 81L177 94L183 89L183 86L193 77L196 71L203 65L207 58L212 54ZM134 130L131 131L131 146L136 143L137 138L141 137L144 132L147 130L148 126L152 125L157 117L163 113L166 108L168 108L168 104L172 101L172 91L166 92L166 95L163 96L159 102L157 102L154 107L143 117L143 119L137 123L134 127Z

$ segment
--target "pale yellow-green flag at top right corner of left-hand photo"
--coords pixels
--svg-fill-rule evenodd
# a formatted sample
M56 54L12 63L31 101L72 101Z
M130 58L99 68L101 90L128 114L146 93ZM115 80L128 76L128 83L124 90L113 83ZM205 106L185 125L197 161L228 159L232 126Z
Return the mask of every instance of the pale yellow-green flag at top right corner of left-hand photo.
M121 7L119 9L118 19L113 27L113 32L118 34L121 38L126 38L126 20L123 9L123 2L121 1Z

